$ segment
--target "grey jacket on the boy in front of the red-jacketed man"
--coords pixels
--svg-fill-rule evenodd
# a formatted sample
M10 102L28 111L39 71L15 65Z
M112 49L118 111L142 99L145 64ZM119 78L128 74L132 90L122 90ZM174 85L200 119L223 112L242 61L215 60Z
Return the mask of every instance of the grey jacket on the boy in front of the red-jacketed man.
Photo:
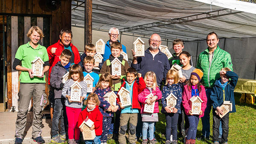
M62 66L60 62L56 63L55 66L52 67L50 84L54 89L54 98L65 98L61 94L61 89L64 86L64 84L61 81L61 78L66 73L66 68L64 68L64 66Z

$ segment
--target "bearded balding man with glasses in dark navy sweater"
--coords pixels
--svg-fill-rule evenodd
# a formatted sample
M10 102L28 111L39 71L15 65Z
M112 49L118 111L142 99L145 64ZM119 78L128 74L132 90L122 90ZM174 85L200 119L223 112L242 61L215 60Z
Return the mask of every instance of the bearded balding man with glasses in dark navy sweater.
M161 37L158 34L151 35L148 40L149 48L145 50L144 57L135 57L136 54L132 50L133 62L131 67L136 69L144 77L146 72L153 71L157 75L157 85L160 86L161 81L166 78L166 74L170 69L167 56L159 50Z

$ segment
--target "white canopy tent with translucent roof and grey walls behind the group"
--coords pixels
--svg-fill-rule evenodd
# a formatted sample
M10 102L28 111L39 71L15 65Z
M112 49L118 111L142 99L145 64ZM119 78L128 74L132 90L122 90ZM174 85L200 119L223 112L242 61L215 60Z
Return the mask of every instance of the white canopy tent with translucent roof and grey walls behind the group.
M93 30L108 32L116 26L122 35L144 38L158 33L169 49L179 38L194 66L207 47L206 35L216 32L235 72L249 79L255 79L255 20L256 4L238 0L93 0ZM84 0L72 0L72 26L84 27Z

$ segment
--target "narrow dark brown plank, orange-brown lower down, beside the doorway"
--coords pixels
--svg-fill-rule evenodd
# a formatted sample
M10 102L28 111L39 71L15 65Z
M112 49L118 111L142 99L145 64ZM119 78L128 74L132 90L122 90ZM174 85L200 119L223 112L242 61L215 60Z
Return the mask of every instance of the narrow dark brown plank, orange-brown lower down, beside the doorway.
M6 17L6 33L7 33L7 110L12 108L12 19L11 16Z

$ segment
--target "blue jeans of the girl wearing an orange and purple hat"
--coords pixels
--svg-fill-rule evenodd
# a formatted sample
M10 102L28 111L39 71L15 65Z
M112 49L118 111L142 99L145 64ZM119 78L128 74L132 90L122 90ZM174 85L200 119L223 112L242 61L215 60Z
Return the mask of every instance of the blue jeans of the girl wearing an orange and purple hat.
M199 122L199 116L198 115L188 115L188 119L189 119L189 130L188 130L186 138L187 139L195 139L198 122Z

